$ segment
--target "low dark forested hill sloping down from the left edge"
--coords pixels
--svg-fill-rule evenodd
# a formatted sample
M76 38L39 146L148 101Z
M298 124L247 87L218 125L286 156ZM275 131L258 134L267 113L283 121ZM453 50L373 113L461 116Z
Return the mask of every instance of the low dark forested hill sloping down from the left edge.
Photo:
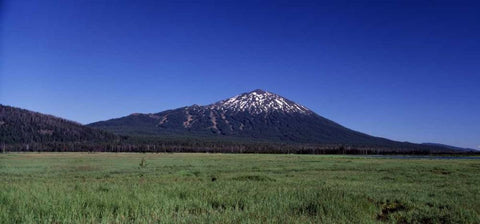
M0 142L3 144L45 142L104 142L114 134L79 123L0 104Z

